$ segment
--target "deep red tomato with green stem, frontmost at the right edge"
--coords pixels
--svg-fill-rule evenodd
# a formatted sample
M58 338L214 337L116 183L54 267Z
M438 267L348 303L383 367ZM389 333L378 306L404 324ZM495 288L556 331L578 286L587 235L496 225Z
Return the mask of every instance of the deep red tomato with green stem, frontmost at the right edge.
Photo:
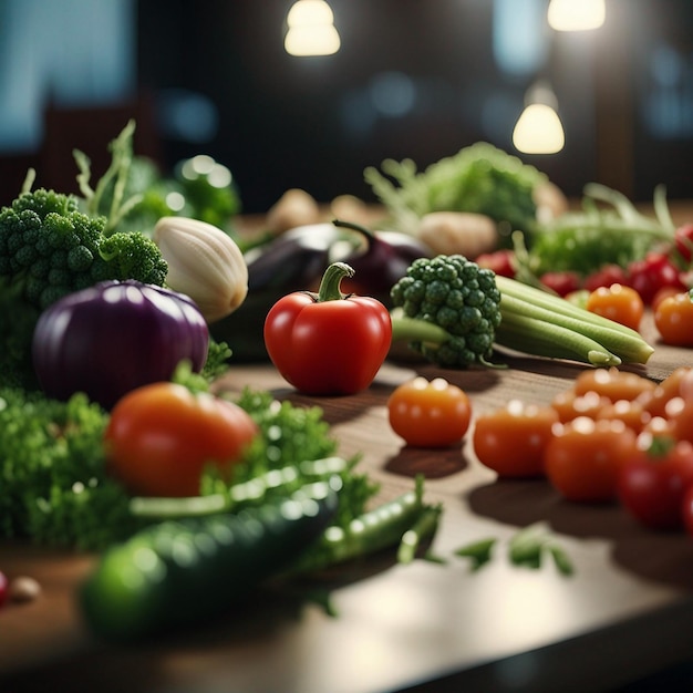
M635 519L653 529L683 527L683 499L693 484L693 444L642 436L638 454L619 472L618 495Z

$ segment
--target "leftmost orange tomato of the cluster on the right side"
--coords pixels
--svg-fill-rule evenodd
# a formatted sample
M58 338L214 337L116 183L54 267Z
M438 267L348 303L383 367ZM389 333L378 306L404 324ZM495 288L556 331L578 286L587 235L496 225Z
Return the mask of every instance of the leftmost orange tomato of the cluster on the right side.
M550 406L510 401L477 417L474 452L500 477L542 476L544 449L557 422L558 413Z

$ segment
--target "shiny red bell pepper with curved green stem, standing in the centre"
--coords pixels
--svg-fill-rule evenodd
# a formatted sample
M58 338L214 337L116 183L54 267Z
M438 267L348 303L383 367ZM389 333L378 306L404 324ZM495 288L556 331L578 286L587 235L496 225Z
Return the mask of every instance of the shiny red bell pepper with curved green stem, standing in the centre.
M265 345L281 375L306 394L346 395L365 390L392 342L392 321L374 298L344 296L344 262L325 270L318 293L279 299L265 320Z

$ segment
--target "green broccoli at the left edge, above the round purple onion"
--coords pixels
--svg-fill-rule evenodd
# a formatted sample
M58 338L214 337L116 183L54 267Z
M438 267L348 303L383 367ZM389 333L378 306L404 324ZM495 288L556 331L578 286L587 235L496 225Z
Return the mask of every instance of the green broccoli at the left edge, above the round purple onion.
M108 279L163 286L167 265L139 231L104 235L105 217L79 211L77 199L43 188L0 210L0 281L44 309L73 291Z

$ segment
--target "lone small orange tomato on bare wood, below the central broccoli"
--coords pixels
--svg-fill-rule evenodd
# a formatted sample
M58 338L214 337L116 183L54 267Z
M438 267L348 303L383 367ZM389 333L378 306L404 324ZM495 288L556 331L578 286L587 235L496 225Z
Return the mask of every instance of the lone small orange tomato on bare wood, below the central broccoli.
M396 387L387 400L392 430L414 447L448 447L459 443L472 418L464 390L443 377L415 377Z

